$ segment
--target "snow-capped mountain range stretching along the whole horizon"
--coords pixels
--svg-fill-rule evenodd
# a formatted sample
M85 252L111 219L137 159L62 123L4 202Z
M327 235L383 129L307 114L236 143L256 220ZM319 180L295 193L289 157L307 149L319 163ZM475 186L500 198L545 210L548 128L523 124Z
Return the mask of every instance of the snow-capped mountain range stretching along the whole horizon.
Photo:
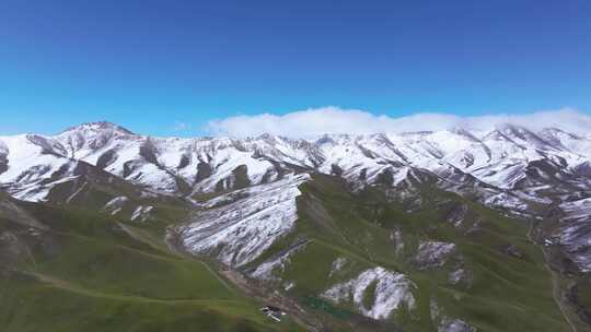
M591 138L556 128L532 132L506 124L489 132L327 134L315 140L262 135L153 138L108 122L57 135L0 137L0 183L13 197L43 201L77 177L79 163L166 194L190 195L317 171L355 188L427 179L489 191L487 203L519 209L528 201L571 201L591 188ZM584 195L584 194L582 194ZM580 199L584 199L581 197Z

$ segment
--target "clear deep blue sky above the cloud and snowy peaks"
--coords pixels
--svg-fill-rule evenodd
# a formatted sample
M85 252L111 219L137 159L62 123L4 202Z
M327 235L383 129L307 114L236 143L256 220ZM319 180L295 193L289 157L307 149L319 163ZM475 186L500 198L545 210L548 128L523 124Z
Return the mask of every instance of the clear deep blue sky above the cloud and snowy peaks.
M194 135L329 105L588 112L591 1L0 2L0 134Z

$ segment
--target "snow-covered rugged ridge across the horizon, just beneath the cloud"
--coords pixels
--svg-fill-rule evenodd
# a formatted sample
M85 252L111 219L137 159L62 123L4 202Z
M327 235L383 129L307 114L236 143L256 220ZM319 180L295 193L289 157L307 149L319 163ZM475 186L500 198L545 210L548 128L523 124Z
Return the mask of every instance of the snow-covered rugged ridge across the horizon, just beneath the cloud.
M507 170L508 167L521 168L515 169L522 171L531 161L548 158L560 159L563 164L563 161L567 159L568 166L576 168L580 165L584 167L584 163L591 157L591 140L584 137L556 128L544 129L538 135L523 127L506 124L502 129L489 132L470 132L454 128L437 132L324 134L313 140L269 134L245 139L229 137L182 139L136 134L118 124L100 121L71 127L57 135L26 134L26 140L22 140L23 135L0 138L3 146L0 156L7 159L3 162L4 167L10 167L10 159L19 159L14 153L11 155L10 150L25 149L24 145L28 145L26 144L28 141L32 145L40 146L43 153L86 162L123 178L134 176L134 165L138 167L148 165L149 168L157 169L144 169L143 175L162 173L161 177L166 178L165 174L172 173L173 177L181 178L197 191L211 190L212 186L196 188L193 179L204 180L204 178L202 175L198 177L195 174L197 167L194 164L210 163L212 154L220 151L227 152L225 158L219 161L215 167L210 165L209 168L217 168L233 157L242 158L237 163L250 159L251 165L246 167L251 169L247 170L253 174L263 173L256 175L255 180L259 180L265 171L271 168L266 165L266 169L260 169L265 166L256 161L263 159L325 174L331 174L333 168L350 173L351 168L360 168L359 164L363 163L368 164L367 170L373 173L384 170L380 168L387 168L380 167L379 164L389 164L398 168L405 165L422 168L437 174L439 164L461 169L483 182L507 189L519 180L511 176L511 171ZM245 156L244 153L250 155ZM503 161L510 155L515 159L512 165ZM520 163L517 162L518 157ZM498 166L497 169L490 169L493 164ZM237 166L239 164L233 165L234 168ZM259 169L255 169L256 167ZM392 170L393 167L389 169ZM223 177L231 170L233 169L227 169ZM506 174L505 177L502 173ZM135 175L137 176L137 173ZM495 178L494 175L500 178ZM2 182L10 180L4 177ZM141 179L138 181L142 182ZM148 181L143 180L144 183ZM171 179L165 181L170 182ZM173 183L169 185L167 192L178 190ZM154 189L166 191L166 188Z

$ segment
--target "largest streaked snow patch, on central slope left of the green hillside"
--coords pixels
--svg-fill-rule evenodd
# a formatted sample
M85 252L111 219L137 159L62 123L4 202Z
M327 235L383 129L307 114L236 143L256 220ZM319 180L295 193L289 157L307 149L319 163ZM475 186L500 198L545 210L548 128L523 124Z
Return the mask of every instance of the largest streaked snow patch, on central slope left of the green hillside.
M229 201L193 215L190 224L179 229L183 245L194 253L215 254L229 265L252 262L291 232L298 220L298 186L308 179L308 174L288 175L206 202L206 206L216 206Z

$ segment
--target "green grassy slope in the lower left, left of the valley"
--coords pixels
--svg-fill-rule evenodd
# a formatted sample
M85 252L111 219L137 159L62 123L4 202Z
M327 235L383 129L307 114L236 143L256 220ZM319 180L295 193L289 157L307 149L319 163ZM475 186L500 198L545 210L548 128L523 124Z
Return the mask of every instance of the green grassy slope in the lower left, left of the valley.
M0 217L0 234L14 236L12 248L26 249L14 249L18 260L0 271L1 331L301 330L263 316L260 304L204 263L165 250L153 225L127 225L150 244L104 214L19 206L46 229Z

